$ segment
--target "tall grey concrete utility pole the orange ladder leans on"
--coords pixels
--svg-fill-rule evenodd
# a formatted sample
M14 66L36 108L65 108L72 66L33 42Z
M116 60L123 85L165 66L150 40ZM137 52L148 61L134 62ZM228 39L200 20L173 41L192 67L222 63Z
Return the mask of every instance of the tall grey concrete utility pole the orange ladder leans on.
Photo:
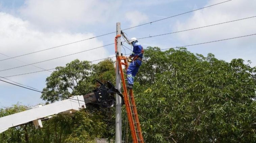
M117 35L121 34L121 23L117 22ZM121 56L121 37L117 38L117 52ZM117 63L116 68L116 88L121 91L121 75ZM116 94L116 143L122 142L122 98Z

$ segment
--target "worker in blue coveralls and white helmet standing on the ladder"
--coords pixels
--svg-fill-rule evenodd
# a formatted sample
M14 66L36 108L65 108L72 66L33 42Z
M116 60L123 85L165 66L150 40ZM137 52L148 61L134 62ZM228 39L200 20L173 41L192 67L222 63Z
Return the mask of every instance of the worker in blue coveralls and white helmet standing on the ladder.
M134 78L142 64L143 47L138 43L136 38L131 38L131 45L133 46L132 54L129 58L133 57L128 69L127 69L127 88L132 89Z

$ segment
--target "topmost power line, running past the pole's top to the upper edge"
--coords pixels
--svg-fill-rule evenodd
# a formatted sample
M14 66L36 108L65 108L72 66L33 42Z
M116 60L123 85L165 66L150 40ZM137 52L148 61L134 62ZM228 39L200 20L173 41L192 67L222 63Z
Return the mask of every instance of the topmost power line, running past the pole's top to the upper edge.
M228 1L231 1L231 0L228 0ZM128 30L128 29L132 29L132 28L135 28L135 27L139 27L139 26L151 24L151 23L153 23L153 22L157 22L157 21L161 21L161 20L164 20L164 19L172 18L172 17L175 17L175 16L179 16L179 15L182 15L182 14L189 13L189 12L197 11L197 10L204 9L204 8L207 8L207 7L211 7L211 6L218 5L218 4L222 4L222 3L225 3L225 2L228 2L228 1L224 1L224 2L221 2L221 3L213 4L213 5L206 6L206 7L202 7L202 8L196 9L196 10L191 10L191 11L184 12L184 13L177 14L177 15L173 15L173 16L170 16L170 17L158 19L158 20L155 20L155 21L151 21L151 22L148 22L148 23L144 23L144 24L141 24L141 25L134 26L134 27L126 28L126 29L123 29L123 30ZM115 32L110 32L110 33L107 33L107 34L103 34L103 35L99 35L99 36L95 36L95 37L91 37L91 38L87 38L87 39L83 39L83 40L80 40L80 41L75 41L75 42L71 42L71 43L67 43L67 44L63 44L63 45L59 45L59 46L55 46L55 47L51 47L51 48L47 48L47 49L35 51L35 52L30 52L30 53L23 54L23 55L18 55L18 56L14 56L14 57L9 57L9 58L6 58L6 59L2 59L2 60L0 60L0 61L4 61L4 60L11 59L11 58L16 58L16 57L21 57L21 56L25 56L25 55L29 55L29 54L33 54L33 53L37 53L37 52L42 52L42 51L46 51L46 50L50 50L50 49L54 49L54 48L58 48L58 47L62 47L62 46L66 46L66 45L70 45L70 44L82 42L82 41L85 41L85 40L89 40L89 39L93 39L93 38L97 38L97 37L101 37L101 36L113 34L113 33L116 33L116 31L115 31Z

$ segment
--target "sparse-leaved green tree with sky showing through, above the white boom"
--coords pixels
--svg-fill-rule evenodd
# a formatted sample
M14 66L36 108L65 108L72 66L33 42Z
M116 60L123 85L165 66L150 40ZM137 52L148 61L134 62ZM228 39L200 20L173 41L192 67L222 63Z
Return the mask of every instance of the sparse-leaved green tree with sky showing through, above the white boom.
M56 67L51 76L46 78L46 88L43 89L41 98L47 102L55 102L92 91L93 85L89 82L91 70L90 62L79 60L68 63L66 67Z

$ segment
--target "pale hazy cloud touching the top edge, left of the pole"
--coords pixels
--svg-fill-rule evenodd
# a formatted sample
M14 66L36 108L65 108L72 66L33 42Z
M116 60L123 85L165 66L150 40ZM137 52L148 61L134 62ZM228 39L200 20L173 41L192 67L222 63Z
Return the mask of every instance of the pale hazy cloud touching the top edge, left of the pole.
M26 0L20 14L44 29L71 28L106 22L114 14L118 3L100 0Z

